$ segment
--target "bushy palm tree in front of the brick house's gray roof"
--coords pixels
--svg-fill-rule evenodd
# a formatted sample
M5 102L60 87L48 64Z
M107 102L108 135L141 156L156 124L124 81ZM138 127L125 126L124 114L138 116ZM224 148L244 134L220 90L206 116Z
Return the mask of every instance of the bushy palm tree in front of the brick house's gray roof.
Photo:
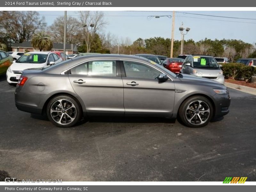
M52 49L51 37L46 35L44 31L33 35L31 44L35 49L39 49L40 51L50 51Z

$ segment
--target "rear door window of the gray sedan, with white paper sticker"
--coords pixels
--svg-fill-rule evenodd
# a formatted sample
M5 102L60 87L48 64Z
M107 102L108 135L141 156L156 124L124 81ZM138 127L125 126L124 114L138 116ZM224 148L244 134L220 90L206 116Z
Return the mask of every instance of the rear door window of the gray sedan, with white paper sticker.
M92 76L116 76L116 61L89 61L70 70L71 74Z

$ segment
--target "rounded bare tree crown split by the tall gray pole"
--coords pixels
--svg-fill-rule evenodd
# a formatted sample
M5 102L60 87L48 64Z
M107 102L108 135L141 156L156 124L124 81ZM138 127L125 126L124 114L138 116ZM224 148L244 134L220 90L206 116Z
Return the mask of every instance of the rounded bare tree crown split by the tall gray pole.
M67 43L79 43L81 42L83 26L74 17L67 17L67 31L66 42ZM64 16L57 17L52 25L48 29L48 34L52 37L53 42L64 42Z

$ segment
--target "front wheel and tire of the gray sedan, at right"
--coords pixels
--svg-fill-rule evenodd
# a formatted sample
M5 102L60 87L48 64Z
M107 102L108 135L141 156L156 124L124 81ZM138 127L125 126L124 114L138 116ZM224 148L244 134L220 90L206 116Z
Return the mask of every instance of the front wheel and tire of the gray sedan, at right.
M180 120L188 127L204 127L211 121L212 116L212 103L203 96L190 97L179 108Z

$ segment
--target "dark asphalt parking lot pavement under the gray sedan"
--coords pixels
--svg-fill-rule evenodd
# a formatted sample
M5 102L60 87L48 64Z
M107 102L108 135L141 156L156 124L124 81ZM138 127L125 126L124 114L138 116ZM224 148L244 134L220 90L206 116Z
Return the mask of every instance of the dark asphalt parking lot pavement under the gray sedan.
M18 111L0 76L0 170L62 181L256 180L256 96L229 89L230 113L203 128L162 118L94 117L58 128Z

